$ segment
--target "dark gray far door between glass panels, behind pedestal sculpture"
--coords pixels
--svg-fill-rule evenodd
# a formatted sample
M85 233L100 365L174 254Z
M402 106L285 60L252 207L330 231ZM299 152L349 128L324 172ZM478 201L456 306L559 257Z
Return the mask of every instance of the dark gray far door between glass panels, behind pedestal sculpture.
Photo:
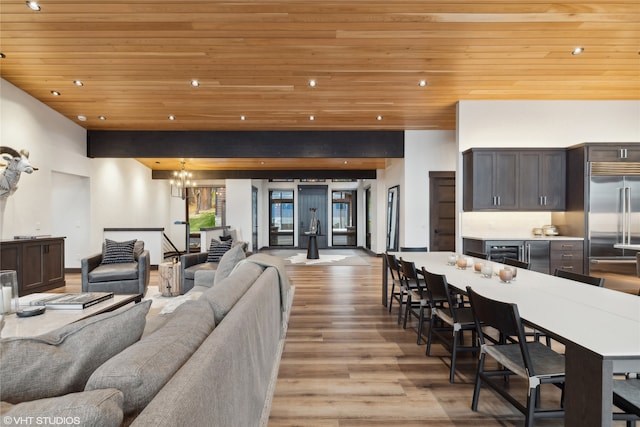
M316 210L316 219L319 221L318 227L318 248L327 247L327 233L329 232L328 218L328 188L326 185L299 185L298 186L298 223L300 224L300 238L298 246L306 248L308 237L304 234L309 231L311 220L311 209Z

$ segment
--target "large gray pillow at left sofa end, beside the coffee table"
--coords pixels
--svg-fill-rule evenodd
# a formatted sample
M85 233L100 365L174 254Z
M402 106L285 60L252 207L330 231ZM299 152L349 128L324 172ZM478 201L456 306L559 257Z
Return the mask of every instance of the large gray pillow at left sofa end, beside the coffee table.
M19 403L82 391L93 371L140 339L151 300L36 337L0 340L0 400Z

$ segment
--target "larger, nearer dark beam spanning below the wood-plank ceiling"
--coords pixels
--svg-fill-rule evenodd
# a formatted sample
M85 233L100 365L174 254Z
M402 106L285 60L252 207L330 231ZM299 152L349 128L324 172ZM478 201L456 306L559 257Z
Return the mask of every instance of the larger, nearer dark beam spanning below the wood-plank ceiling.
M87 132L88 157L402 158L403 131Z

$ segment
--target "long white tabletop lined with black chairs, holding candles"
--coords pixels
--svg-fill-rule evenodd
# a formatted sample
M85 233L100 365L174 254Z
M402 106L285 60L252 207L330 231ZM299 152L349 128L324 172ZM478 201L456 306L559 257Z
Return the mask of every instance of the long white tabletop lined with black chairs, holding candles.
M605 358L633 358L640 368L640 298L573 280L518 269L510 284L489 279L473 268L447 264L451 252L395 252L417 268L445 274L451 286L471 286L488 298L518 304L520 315L562 342L573 342ZM484 260L480 262L486 262ZM502 264L491 262L494 272Z

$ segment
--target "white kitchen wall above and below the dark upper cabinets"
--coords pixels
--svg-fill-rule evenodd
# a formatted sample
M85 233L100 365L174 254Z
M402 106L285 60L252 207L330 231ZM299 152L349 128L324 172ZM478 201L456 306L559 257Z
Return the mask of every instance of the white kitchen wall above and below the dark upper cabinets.
M458 168L472 147L569 147L585 142L640 142L640 101L460 101ZM461 236L528 233L551 221L549 212L462 212L457 175L458 248Z

